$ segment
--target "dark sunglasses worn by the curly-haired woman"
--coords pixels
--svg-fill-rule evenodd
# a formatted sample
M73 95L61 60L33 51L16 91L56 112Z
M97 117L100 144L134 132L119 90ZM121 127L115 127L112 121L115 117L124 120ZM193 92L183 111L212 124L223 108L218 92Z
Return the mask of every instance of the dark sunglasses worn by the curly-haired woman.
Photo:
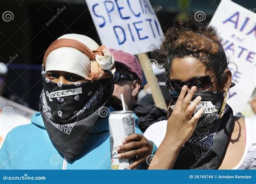
M192 86L197 87L196 92L205 92L210 90L210 88L215 83L215 80L213 80L213 76L200 76L196 78L192 78L188 81L181 81L176 79L169 79L166 82L166 87L169 90L170 94L172 95L178 95L181 92L181 88L186 85L188 88L191 88Z

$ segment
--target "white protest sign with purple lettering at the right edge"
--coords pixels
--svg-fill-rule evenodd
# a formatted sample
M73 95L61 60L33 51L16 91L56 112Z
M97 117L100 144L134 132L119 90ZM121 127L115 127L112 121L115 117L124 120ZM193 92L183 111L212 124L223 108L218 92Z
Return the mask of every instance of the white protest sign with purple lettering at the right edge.
M228 91L227 103L234 114L242 112L255 88L255 13L232 2L221 1L210 25L217 28L232 71L235 86Z

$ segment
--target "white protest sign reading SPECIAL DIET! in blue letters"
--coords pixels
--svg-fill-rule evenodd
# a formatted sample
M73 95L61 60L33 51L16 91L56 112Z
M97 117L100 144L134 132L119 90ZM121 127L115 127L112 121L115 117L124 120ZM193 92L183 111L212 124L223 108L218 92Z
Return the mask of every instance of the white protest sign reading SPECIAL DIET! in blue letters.
M163 31L149 0L86 0L103 45L132 54L150 52Z

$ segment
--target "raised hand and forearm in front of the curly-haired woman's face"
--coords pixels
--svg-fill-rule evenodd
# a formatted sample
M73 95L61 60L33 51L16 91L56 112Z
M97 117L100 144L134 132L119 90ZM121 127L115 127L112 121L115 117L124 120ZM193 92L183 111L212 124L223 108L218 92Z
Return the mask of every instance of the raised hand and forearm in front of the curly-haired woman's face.
M191 137L201 114L203 114L203 108L201 108L192 117L201 97L197 97L190 104L197 87L193 86L188 93L187 90L187 86L183 86L174 110L168 119L165 138L154 154L154 160L157 162L150 164L149 169L171 169L173 167L180 148Z

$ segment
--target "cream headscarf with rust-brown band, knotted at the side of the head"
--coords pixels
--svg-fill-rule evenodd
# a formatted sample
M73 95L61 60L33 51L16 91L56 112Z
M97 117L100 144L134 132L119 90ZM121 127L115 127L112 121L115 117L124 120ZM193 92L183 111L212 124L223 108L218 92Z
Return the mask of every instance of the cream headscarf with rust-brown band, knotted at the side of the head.
M103 70L114 74L114 58L105 46L99 46L84 35L59 37L45 52L43 65L47 71L75 73L87 80L104 77Z

